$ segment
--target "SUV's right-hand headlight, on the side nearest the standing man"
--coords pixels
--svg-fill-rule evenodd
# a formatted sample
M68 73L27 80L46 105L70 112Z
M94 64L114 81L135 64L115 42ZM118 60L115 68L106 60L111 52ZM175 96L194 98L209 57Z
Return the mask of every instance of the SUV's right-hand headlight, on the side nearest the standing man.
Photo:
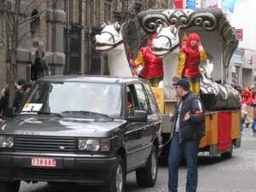
M109 149L109 139L79 139L79 150L108 151Z

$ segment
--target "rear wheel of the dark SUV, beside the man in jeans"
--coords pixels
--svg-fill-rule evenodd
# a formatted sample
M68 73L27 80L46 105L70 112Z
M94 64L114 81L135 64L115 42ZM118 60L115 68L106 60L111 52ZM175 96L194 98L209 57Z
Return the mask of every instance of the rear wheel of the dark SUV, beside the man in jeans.
M140 187L154 187L158 172L157 150L153 146L147 166L136 171L137 184Z

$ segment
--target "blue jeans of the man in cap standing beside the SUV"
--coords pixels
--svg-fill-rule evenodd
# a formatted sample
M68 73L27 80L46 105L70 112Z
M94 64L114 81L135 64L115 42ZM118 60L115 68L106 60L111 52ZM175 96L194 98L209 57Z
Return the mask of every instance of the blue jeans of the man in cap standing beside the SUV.
M177 132L174 133L168 159L168 192L177 192L178 166L183 156L185 156L187 161L186 192L196 192L198 183L197 155L199 144L199 140L188 140L180 143L179 134Z

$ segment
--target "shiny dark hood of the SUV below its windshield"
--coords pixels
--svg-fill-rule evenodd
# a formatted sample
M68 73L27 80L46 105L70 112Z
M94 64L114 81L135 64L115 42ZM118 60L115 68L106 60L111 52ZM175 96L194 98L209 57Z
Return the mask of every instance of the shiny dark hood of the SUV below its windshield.
M49 117L49 115L21 115L0 124L0 134L110 137L113 131L125 126L122 119L86 119Z

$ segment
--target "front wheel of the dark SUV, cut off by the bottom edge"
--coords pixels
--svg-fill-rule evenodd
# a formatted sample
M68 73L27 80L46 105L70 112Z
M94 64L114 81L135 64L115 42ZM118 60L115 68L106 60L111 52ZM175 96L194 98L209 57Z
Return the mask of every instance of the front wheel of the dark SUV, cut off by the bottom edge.
M99 187L99 192L124 192L125 190L125 166L124 161L117 156L117 165L113 170L108 186Z

